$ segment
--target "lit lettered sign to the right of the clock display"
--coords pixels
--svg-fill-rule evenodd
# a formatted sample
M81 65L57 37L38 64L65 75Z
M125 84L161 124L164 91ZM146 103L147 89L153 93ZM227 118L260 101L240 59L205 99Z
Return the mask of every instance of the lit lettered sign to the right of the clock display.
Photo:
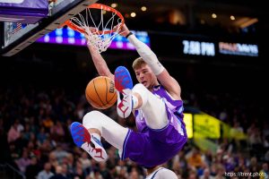
M258 56L258 46L255 44L239 44L219 42L219 52L225 55Z

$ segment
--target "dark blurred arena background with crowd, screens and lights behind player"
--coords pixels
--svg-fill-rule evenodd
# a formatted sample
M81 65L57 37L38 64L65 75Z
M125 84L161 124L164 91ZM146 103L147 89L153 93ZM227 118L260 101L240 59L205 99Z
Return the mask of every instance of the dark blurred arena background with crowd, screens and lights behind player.
M268 178L265 2L98 3L122 13L181 86L189 141L164 166L184 179L230 178L228 172ZM131 65L138 54L125 38L114 42L101 54L110 71L125 65L134 77ZM141 166L119 160L106 141L105 163L74 145L68 127L93 110L84 90L98 75L83 43L64 28L16 55L0 56L0 178L144 178ZM134 117L118 117L115 106L102 112L135 130Z

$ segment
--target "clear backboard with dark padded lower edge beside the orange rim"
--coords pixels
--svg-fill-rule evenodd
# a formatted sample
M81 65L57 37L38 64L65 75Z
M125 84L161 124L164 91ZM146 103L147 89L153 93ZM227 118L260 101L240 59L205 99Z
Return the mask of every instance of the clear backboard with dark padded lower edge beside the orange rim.
M75 14L82 12L89 4L98 0L57 0L49 8L48 17L34 24L20 24L16 22L0 22L0 55L12 56L23 48L56 30ZM18 25L19 24L19 25ZM15 26L15 30L14 30ZM20 26L20 27L17 27Z

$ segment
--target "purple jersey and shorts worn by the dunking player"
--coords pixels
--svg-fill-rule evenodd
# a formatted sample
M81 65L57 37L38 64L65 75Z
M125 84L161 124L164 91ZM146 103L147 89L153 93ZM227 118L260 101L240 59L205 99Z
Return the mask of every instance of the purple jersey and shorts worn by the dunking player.
M164 101L169 124L163 129L153 130L146 125L143 111L136 110L134 116L138 132L129 130L122 153L123 159L130 158L145 167L167 162L187 142L183 101L173 100L161 85L155 87L152 93Z

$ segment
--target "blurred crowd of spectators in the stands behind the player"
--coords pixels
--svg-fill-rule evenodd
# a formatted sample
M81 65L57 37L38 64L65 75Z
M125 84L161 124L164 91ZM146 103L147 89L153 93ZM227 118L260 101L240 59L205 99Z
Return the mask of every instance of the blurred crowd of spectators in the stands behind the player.
M204 98L196 98L191 94L186 98L189 105L246 132L246 149L240 148L235 141L221 139L215 141L218 144L216 152L203 151L189 140L184 149L163 166L183 179L228 178L231 172L251 172L256 178L268 177L269 125L265 119L250 118L255 117L251 114L256 104L240 104L239 97L229 95L207 94ZM106 141L103 144L108 160L101 163L74 145L69 125L74 121L81 122L82 116L91 110L93 108L83 94L73 96L64 88L1 88L0 163L12 164L27 179L144 178L143 167L130 160L120 160L117 149ZM102 112L135 130L134 118L118 117L115 107Z

